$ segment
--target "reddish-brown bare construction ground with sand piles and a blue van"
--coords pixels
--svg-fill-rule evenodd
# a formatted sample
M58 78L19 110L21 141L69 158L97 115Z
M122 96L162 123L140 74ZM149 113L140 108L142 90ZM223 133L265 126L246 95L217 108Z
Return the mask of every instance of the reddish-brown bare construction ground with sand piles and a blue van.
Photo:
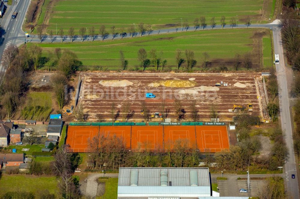
M190 104L196 100L200 120L210 118L210 108L216 107L221 120L232 120L233 105L253 104L250 114L261 115L266 111L262 104L260 73L200 74L200 73L85 73L79 103L88 112L88 120L96 121L101 114L107 121L111 118L114 102L122 114L122 105L130 104L134 111L130 120L140 121L142 104L146 103L151 113L161 112L162 102L169 109L168 118L175 119L174 101L179 99L185 111L185 120L191 120ZM194 80L189 80L195 78ZM113 81L112 81L113 80ZM216 82L226 82L228 86L215 86ZM237 86L234 86L237 85ZM110 86L111 85L111 86ZM147 99L147 92L156 95ZM257 98L259 96L259 99ZM158 120L158 119L155 119Z

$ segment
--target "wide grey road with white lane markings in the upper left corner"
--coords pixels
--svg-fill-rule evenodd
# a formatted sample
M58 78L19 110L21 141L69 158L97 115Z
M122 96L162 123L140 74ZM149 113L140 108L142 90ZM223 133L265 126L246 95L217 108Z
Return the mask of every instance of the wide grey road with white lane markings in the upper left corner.
M14 1L12 0L12 5L7 4L7 9L4 13L3 18L0 19L2 30L2 43L0 46L0 55L2 56L3 51L7 48L8 45L18 45L24 41L25 33L22 30L22 25L26 16L26 12L29 6L30 0L21 0ZM18 15L16 19L11 19L12 13L16 11ZM6 69L0 65L0 72L5 71Z

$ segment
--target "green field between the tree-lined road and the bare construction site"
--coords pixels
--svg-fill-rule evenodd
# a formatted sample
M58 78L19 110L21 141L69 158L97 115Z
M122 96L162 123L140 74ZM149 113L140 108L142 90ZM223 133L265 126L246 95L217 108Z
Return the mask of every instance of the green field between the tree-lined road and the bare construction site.
M48 50L53 52L55 48L68 49L74 51L83 66L100 66L111 68L111 66L120 65L119 51L122 50L125 59L128 60L128 66L138 66L137 51L140 48L145 48L149 52L152 48L156 48L158 52L163 52L162 59L167 60L166 66L176 65L176 49L184 51L186 49L193 50L196 66L202 65L203 53L207 52L210 56L212 66L220 62L230 62L234 59L235 54L244 55L247 52L252 52L255 49L253 35L257 29L224 29L224 30L203 30L197 32L185 32L164 34L155 36L136 37L131 39L122 39L116 41L105 42L83 42L83 43L41 43L44 52ZM266 32L268 30L265 30ZM266 33L264 41L267 41L269 34ZM261 38L260 38L261 39ZM271 49L271 42L264 42L265 49ZM270 50L269 50L270 51ZM271 54L265 50L264 61L270 63ZM269 54L268 54L269 53ZM46 55L44 53L44 55ZM55 58L52 56L52 62ZM151 57L148 55L148 58ZM47 64L45 64L47 65ZM267 65L266 65L267 66ZM229 64L230 67L230 64ZM115 69L118 69L115 67ZM199 69L198 69L199 70Z

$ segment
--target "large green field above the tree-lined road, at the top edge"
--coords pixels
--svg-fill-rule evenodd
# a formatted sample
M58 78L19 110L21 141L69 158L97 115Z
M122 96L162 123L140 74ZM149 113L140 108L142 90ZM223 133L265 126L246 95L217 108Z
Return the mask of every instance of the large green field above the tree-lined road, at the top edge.
M94 26L98 31L101 25L110 30L113 25L119 29L135 24L137 28L137 24L143 22L151 24L153 29L161 29L181 27L185 20L193 26L194 19L201 16L206 17L208 25L211 17L215 17L217 24L220 24L221 16L226 17L227 24L232 17L240 24L244 23L247 16L252 23L264 23L270 17L273 0L265 0L265 6L263 4L264 0L63 0L54 3L47 25L48 30L54 32L56 24L58 30L74 27L78 31L80 27ZM39 24L41 22L39 20Z

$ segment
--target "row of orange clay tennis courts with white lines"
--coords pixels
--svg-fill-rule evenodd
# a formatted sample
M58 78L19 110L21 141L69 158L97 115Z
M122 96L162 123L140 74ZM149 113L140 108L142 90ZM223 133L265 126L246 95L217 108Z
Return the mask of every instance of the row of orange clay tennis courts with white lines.
M187 148L217 152L229 148L226 126L69 126L66 144L73 152L89 152L89 140L98 134L120 137L127 149L164 152L186 140Z

